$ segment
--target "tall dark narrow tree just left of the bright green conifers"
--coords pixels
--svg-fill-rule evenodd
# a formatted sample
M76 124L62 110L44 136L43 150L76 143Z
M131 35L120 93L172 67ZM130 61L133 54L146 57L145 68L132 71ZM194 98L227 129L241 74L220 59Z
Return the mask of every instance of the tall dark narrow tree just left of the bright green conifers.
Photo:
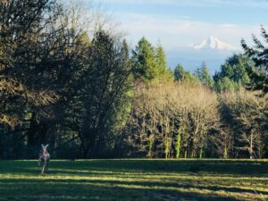
M83 157L111 150L113 129L130 91L129 50L105 31L96 32L82 77L80 141ZM75 111L73 111L75 113Z

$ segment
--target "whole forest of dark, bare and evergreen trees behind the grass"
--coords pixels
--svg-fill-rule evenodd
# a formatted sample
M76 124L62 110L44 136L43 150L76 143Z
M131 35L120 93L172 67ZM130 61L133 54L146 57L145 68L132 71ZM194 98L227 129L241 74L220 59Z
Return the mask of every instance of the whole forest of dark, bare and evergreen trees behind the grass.
M101 15L0 1L0 159L268 158L268 32L209 75ZM241 36L243 37L243 36ZM183 39L183 38L178 38ZM253 42L254 46L249 46Z

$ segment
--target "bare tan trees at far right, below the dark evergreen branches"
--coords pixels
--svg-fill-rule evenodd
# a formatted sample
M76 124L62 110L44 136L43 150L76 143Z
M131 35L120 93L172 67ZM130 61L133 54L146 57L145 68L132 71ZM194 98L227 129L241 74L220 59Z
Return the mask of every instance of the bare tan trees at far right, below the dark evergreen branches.
M222 94L222 124L224 147L232 157L267 157L268 104L265 97L240 90ZM233 150L230 153L230 150Z

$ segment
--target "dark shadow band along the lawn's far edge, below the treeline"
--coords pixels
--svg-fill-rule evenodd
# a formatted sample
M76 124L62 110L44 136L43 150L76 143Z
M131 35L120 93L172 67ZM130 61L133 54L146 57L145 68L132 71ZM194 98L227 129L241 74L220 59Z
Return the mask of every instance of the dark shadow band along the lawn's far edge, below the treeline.
M88 161L52 161L49 167L68 174L83 174L85 171L96 172L150 172L150 173L208 173L233 174L243 176L268 176L268 162L258 161L223 161L223 160L88 160ZM0 172L38 173L36 161L0 161ZM68 172L68 170L74 170ZM87 173L88 173L87 172Z

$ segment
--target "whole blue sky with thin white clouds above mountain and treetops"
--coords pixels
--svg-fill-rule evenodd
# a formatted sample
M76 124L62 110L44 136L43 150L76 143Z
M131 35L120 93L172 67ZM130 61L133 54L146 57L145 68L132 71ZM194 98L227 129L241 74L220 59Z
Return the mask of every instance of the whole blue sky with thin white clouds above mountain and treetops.
M94 2L101 4L113 20L120 23L119 29L126 33L132 47L145 36L154 45L160 42L170 60L173 55L186 50L188 44L200 43L211 36L239 47L241 38L250 44L251 34L259 37L261 25L268 29L268 0Z

